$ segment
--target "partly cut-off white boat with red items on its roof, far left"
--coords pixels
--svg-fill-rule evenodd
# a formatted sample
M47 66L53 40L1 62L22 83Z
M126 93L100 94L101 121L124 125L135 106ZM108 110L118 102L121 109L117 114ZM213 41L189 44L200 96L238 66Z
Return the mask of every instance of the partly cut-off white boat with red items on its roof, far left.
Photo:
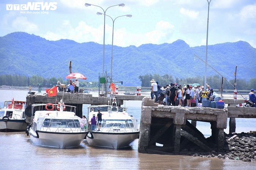
M5 101L4 108L0 108L0 132L25 131L25 103L23 101Z

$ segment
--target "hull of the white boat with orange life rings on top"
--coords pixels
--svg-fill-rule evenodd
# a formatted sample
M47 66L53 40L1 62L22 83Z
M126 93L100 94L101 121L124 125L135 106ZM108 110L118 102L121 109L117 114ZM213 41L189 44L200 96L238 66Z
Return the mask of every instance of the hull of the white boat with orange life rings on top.
M30 139L35 145L57 147L57 148L69 148L79 146L81 141L86 137L88 131L79 133L57 133L36 131L34 134L30 133Z

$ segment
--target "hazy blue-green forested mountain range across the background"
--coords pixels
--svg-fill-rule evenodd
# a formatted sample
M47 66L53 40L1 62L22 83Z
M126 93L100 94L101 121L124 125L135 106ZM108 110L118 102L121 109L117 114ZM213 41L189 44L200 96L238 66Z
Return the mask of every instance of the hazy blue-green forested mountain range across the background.
M105 45L105 71L110 73L111 45ZM123 86L140 86L140 75L169 74L176 78L204 76L206 46L189 47L183 40L164 44L143 44L139 47L113 46L113 81ZM207 63L226 79L255 78L256 48L245 41L208 46ZM0 37L1 74L40 75L44 78L63 78L72 72L98 82L102 74L103 45L77 43L61 39L49 41L34 34L14 32ZM218 74L207 66L207 75Z

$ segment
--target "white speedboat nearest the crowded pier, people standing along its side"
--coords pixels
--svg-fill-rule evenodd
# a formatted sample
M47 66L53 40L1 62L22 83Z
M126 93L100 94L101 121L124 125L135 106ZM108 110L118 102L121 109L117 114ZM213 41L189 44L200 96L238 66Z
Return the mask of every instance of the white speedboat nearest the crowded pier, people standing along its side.
M128 115L127 108L113 105L88 106L88 121L93 114L97 116L97 110L102 113L102 124L99 131L98 127L94 131L90 130L88 124L86 142L89 145L120 149L132 146L132 142L138 139L138 122Z

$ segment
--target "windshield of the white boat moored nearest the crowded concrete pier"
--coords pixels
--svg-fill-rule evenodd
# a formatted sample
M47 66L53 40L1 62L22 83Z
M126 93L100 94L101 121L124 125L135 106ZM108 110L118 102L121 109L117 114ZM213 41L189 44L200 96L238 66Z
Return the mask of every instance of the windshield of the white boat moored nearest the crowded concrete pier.
M133 122L131 119L129 120L123 120L123 119L105 119L102 120L102 127L118 127L118 128L124 128L124 127L134 127Z

